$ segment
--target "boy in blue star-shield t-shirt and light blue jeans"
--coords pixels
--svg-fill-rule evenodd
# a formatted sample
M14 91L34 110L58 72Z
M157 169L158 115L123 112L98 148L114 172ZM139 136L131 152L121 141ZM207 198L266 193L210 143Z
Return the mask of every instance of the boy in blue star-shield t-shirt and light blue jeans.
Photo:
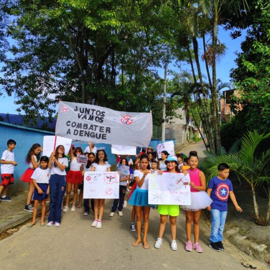
M228 179L230 168L226 163L218 165L219 175L212 178L208 183L207 194L213 200L207 207L211 211L211 235L209 247L214 251L224 250L223 230L228 211L228 198L230 196L237 211L242 209L238 205L233 193L232 182Z

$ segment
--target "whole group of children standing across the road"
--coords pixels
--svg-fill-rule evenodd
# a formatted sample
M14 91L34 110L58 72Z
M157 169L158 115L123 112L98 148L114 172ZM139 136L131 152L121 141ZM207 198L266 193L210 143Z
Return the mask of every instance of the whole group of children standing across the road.
M14 166L17 165L14 160L14 152L16 142L9 140L7 142L8 149L5 150L1 157L1 176L2 182L0 186L1 201L11 201L7 197L7 191L10 184L14 183ZM65 156L65 149L63 145L56 147L48 158L42 156L40 153L42 148L39 144L34 144L28 155L26 155L26 162L29 168L21 176L21 180L29 182L29 193L26 199L24 210L33 211L33 221L28 225L32 227L36 224L36 215L39 202L41 203L41 223L40 226L45 226L45 211L46 198L50 193L49 216L47 226L61 225L62 210L67 212L69 210L70 192L73 186L74 196L71 211L75 211L75 203L77 199L77 190L80 189L79 204L81 207L83 194L83 175L86 171L109 172L111 165L107 163L107 155L103 149L97 150L94 144L90 144L89 149L85 152L80 148L70 149L70 170L66 173L69 165L69 160ZM89 152L87 152L89 151ZM77 154L86 154L87 164L82 166L77 162ZM132 159L131 159L132 160ZM118 160L118 166L130 165L126 157L121 156ZM185 163L184 163L184 162ZM133 163L133 162L132 162ZM187 165L189 168L184 169ZM121 217L123 215L122 209L125 206L126 190L130 190L128 203L133 206L131 213L131 231L137 231L137 239L132 242L132 246L138 247L142 242L145 249L149 248L147 242L147 234L149 229L149 213L151 208L156 208L154 205L148 204L148 178L150 173L184 173L190 175L191 186L191 205L183 206L185 210L185 229L186 229L186 244L185 250L202 252L202 247L199 244L200 236L200 215L201 210L207 208L211 211L211 234L209 247L214 251L224 250L222 244L223 230L227 215L228 197L231 198L237 211L242 211L237 204L233 193L232 183L228 179L229 166L227 164L219 164L217 177L212 178L208 183L206 191L206 179L202 171L198 169L199 158L196 151L191 151L186 160L183 160L181 154L169 155L167 151L161 152L161 159L156 160L155 155L150 149L149 152L140 153L136 156L134 163L134 172L131 169L125 175L120 174L119 184L119 199L114 200L110 217L113 217L116 210ZM132 166L130 166L132 167ZM130 175L133 175L131 178ZM133 179L133 180L131 180ZM67 185L67 189L66 189ZM66 193L65 205L62 209L62 202L64 194ZM31 199L34 200L34 206L31 205ZM92 227L102 227L102 216L104 213L105 199L91 199L91 206L94 211L94 221ZM90 204L88 199L84 199L84 215L90 212ZM163 234L168 220L171 226L171 249L177 250L176 242L176 219L179 215L179 205L158 205L157 211L160 214L160 223L158 230L158 238L155 241L154 247L160 248L163 244ZM134 224L137 219L136 226ZM143 224L142 224L143 221ZM194 242L192 243L192 224L194 227ZM142 238L143 231L143 238Z

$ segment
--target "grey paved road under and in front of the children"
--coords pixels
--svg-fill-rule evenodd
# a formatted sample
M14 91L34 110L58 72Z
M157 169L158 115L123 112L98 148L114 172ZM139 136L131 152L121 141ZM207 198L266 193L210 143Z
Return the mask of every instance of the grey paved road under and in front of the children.
M106 200L101 229L92 228L93 214L84 217L83 209L64 213L61 227L21 227L0 241L0 269L246 269L226 251L214 252L208 247L209 229L201 235L203 253L184 251L184 213L177 219L178 250L170 249L170 227L167 224L161 249L153 247L159 215L150 212L149 250L132 247L136 233L131 232L131 206L123 217L110 218L112 200ZM204 224L202 220L202 224ZM227 244L225 243L225 248ZM229 249L229 248L228 248Z

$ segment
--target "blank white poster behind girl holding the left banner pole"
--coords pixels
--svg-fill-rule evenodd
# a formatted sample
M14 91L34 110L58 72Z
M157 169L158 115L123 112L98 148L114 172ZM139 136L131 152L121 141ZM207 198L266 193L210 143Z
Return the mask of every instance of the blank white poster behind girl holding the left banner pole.
M50 156L54 150L53 147L57 148L59 145L65 147L65 155L68 154L72 139L60 137L60 136L44 136L43 137L43 152L42 155Z

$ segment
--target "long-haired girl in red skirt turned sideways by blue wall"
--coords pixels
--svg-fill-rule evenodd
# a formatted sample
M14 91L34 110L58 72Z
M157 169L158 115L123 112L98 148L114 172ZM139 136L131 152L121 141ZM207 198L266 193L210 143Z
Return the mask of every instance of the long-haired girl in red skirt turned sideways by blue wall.
M28 212L33 212L33 206L30 204L30 202L33 196L35 186L32 182L31 176L34 173L34 170L39 167L40 152L42 152L41 145L33 144L28 154L25 157L25 161L26 163L28 163L29 168L20 177L20 179L23 182L29 183L28 196L27 196L26 204L24 205L24 211L28 211Z

